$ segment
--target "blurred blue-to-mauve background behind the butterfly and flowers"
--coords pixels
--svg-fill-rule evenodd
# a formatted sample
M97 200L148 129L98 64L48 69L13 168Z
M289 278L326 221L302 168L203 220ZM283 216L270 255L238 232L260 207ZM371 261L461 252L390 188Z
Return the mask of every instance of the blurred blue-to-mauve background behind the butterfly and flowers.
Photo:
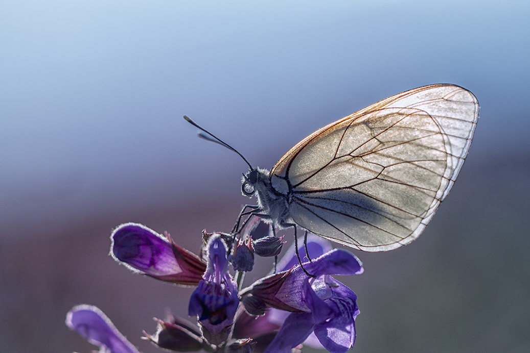
M306 135L414 87L481 110L451 195L422 236L355 252L357 352L530 351L527 1L3 0L0 351L87 352L64 319L99 306L140 350L192 288L130 273L109 236L139 222L197 251ZM292 238L287 237L291 241ZM262 261L254 276L266 274ZM251 280L251 276L247 279Z

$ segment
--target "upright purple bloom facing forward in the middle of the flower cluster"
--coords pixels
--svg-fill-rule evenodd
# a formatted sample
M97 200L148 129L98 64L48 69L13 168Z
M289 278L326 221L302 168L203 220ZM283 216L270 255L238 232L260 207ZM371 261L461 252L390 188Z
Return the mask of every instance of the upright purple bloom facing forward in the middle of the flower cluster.
M220 236L208 240L208 267L190 298L188 314L197 315L204 337L213 345L226 341L239 305L237 285L228 273L227 249Z

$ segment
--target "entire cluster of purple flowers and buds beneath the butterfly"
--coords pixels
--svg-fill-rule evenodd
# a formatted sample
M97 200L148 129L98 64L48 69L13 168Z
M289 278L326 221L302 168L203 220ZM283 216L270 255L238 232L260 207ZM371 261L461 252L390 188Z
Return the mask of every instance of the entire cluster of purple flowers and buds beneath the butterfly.
M197 324L167 312L164 320L155 319L156 333L144 331L144 338L181 352L290 353L303 343L345 353L353 346L357 296L331 275L363 273L355 256L331 250L328 241L312 236L306 248L313 260L303 256L304 247L299 248L311 275L298 264L291 247L278 263L280 273L238 293L243 271L252 269L254 250L258 247L262 255L275 256L282 246L270 225L259 219L246 223L239 235L236 239L233 234L204 231L202 260L177 246L169 234L161 236L144 225L127 223L114 230L111 254L129 269L167 282L197 285L188 306ZM228 272L230 262L237 271L237 283ZM74 307L67 324L101 351L138 353L95 307Z

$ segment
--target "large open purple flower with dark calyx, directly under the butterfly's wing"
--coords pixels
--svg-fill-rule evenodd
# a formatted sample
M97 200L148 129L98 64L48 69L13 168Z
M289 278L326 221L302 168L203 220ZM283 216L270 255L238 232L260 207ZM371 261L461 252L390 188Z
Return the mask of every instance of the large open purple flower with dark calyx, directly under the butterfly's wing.
M308 243L308 248L310 245ZM292 261L288 258L282 262L289 265ZM355 318L359 313L357 296L330 275L361 274L363 267L354 255L335 249L304 263L304 268L316 278L307 276L296 265L258 280L241 293L250 295L254 302L261 301L291 312L284 316L285 321L265 353L288 353L313 331L324 348L332 353L344 353L355 341Z

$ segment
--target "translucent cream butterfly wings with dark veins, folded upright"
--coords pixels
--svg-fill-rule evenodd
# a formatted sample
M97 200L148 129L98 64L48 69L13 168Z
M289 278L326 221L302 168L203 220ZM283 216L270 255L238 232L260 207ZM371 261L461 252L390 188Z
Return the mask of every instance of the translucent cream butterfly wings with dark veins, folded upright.
M364 251L416 239L449 193L469 150L479 104L431 85L386 98L314 132L272 168L301 227Z

